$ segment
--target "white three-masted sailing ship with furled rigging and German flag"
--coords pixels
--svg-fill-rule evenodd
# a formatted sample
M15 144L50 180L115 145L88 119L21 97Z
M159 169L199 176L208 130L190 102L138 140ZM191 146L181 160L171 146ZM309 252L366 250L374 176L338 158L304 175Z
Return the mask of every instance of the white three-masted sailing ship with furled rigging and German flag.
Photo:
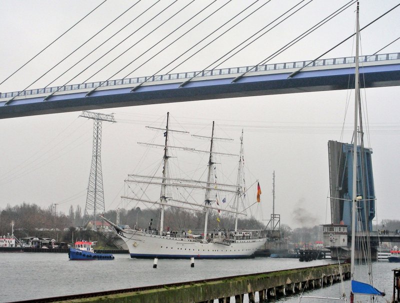
M214 122L212 123L212 132L210 137L198 136L209 140L210 148L209 151L202 151L209 154L208 156L208 173L207 180L192 180L170 177L168 160L170 155L169 149L181 149L194 151L191 148L176 147L169 145L169 133L176 132L169 129L169 113L167 114L167 121L165 129L159 128L163 131L165 142L163 145L163 168L162 176L143 176L143 175L129 175L128 182L136 182L141 184L152 184L160 186L160 197L159 200L151 201L142 199L141 197L124 196L123 198L134 200L142 203L157 204L159 205L160 215L159 222L154 226L159 228L151 228L151 224L148 228L121 228L108 219L104 218L105 221L110 223L118 236L126 243L130 256L132 258L248 258L254 255L255 251L266 242L263 230L244 230L237 228L238 216L244 215L245 209L239 210L239 205L243 205L239 201L242 201L243 196L246 194L246 190L241 182L241 169L243 161L243 141L242 136L240 137L240 153L239 153L239 165L237 171L237 183L236 184L220 184L215 180L212 180L213 176L213 157L215 154L231 155L227 153L217 153L214 151L214 141L221 139L214 136ZM179 131L177 131L179 132ZM193 135L194 136L194 135ZM155 146L159 146L153 144ZM190 188L196 190L203 190L204 200L200 203L195 201L178 200L170 197L167 194L167 188ZM229 209L223 208L218 203L218 199L213 196L215 191L223 191L234 194L234 207ZM259 201L259 199L258 199ZM254 204L257 202L254 202ZM164 224L164 212L168 207L177 207L186 210L193 210L202 212L204 214L204 230L200 234L194 234L190 229L182 231L169 231L169 228L165 228ZM210 232L208 227L208 214L209 212L217 211L230 213L235 220L233 230L217 230L215 234ZM217 220L219 218L217 217Z

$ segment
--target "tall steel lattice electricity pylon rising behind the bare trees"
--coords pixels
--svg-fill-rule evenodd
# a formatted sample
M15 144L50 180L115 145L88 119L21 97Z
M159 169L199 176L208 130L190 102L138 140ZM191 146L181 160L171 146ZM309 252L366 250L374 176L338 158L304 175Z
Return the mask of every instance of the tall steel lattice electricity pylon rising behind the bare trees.
M93 119L93 151L83 217L86 217L86 222L93 219L93 228L96 230L96 214L103 213L105 209L101 173L101 123L102 121L115 122L115 120L113 114L106 115L88 111L83 111L79 117Z

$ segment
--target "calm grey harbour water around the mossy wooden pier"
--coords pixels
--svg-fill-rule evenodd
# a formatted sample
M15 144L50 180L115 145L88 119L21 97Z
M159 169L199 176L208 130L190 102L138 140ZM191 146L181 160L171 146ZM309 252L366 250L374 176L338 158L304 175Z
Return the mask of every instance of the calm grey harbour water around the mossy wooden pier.
M297 259L257 257L237 260L158 260L152 268L152 259L131 259L129 255L115 254L112 261L69 261L67 253L9 253L0 252L0 302L59 296L136 286L166 284L305 267L329 263L328 260L299 262ZM391 296L392 271L395 264L379 261L374 264L375 285ZM348 281L345 282L348 285ZM339 284L322 289L324 295L336 296ZM313 291L316 295L318 291ZM311 293L311 292L309 292ZM311 294L310 294L311 295ZM296 302L297 296L279 301Z

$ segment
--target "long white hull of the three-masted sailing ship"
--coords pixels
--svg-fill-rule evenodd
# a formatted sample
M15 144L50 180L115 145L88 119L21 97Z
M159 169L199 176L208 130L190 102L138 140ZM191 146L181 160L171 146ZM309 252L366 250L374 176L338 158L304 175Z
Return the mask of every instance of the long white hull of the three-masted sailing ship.
M224 239L218 235L208 242L133 229L124 229L118 235L125 241L132 258L249 258L266 242L265 238Z

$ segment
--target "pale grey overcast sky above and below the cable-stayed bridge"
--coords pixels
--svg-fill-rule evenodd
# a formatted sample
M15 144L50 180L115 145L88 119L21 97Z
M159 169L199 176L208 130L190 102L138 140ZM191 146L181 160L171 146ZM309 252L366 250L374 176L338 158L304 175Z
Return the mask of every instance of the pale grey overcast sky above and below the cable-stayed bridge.
M86 15L100 1L41 1L41 2L8 2L0 0L0 81L8 77L18 67L42 50L71 25ZM137 19L118 39L105 44L95 54L86 58L84 64L72 69L65 76L52 81L74 62L85 56L94 48L125 24L142 12L150 1L139 3L129 11L126 17L117 22L107 34L100 34L94 42L88 43L84 50L60 64L30 88L42 88L47 85L64 85L69 79L82 71L94 58L103 54L111 46L126 37L129 31L139 29L160 7L166 7L171 1L157 4L149 15ZM105 80L142 54L148 47L165 37L177 27L177 24L188 19L193 12L200 11L211 1L197 1L189 6L184 16L174 22L165 24L159 31L148 35L157 25L176 12L187 2L179 0L166 11L162 17L155 19L146 27L138 30L127 42L122 44L103 61L98 62L83 72L71 84ZM225 3L212 4L207 14ZM259 1L255 6L260 6ZM174 69L172 72L198 71L205 69L220 55L261 29L296 2L272 0L260 9L252 18L240 24L234 31L208 46L196 56ZM303 4L305 4L304 2ZM241 51L236 56L213 67L237 67L254 65L267 58L280 47L319 22L322 18L344 5L344 1L326 2L314 0L304 10L274 30L264 35L256 43ZM92 17L79 25L60 42L57 42L38 56L32 63L12 76L2 85L1 92L22 90L40 75L54 66L73 49L86 41L116 16L125 11L133 2L108 1L101 6ZM153 54L157 53L167 42L162 42L150 53L133 63L128 69L118 73L114 79L149 76L157 72L177 57L195 41L199 41L207 33L234 16L250 2L233 0L227 4L222 14L216 15L199 29L194 30L162 54L138 68ZM396 1L361 1L361 27L396 5ZM354 31L355 6L346 10L300 43L287 50L271 63L311 60L327 49L348 37ZM400 27L399 8L372 25L361 34L361 52L370 55L387 45L398 36ZM197 20L204 18L204 13ZM194 23L191 23L194 25ZM185 26L179 33L188 30ZM179 34L179 35L180 35ZM167 39L168 43L179 36L177 33ZM99 67L111 61L116 54L129 45L140 41L126 56L115 61L94 77ZM209 40L208 40L209 41ZM198 49L198 47L196 48ZM400 42L387 47L381 53L400 51ZM352 41L333 50L324 58L353 56ZM180 61L179 61L180 62ZM171 70L164 69L162 73ZM398 87L367 89L363 94L366 100L369 142L372 147L373 173L375 193L377 197L377 219L398 219L398 199L395 188L400 183L400 164L397 151L400 148L399 119L397 96ZM169 111L176 123L191 133L209 135L211 122L215 120L221 133L238 139L240 130L244 129L246 166L253 176L259 179L262 189L262 207L264 218L272 211L272 171L275 170L275 212L281 215L281 223L297 227L302 224L323 224L330 220L327 196L329 194L327 141L337 140L349 142L352 128L352 105L349 106L345 119L347 99L352 103L348 91L330 91L318 93L287 94L276 96L260 96L248 98L196 101L152 106L137 106L98 111L114 113L117 123L103 123L102 132L102 172L106 209L114 209L120 203L123 194L123 180L128 173L137 167L143 153L143 147L137 141L148 142L154 133L145 130L146 125L157 125L154 121L162 120ZM59 211L67 212L69 205L81 205L84 208L86 188L91 162L92 121L78 118L80 112L54 114L35 117L22 117L0 120L0 208L20 204L23 201L47 207L50 203L58 203ZM341 138L341 126L345 123L344 135ZM158 125L160 126L160 124ZM223 132L222 132L223 130ZM236 143L238 140L236 140ZM234 150L233 153L237 153ZM250 179L251 179L250 178ZM247 181L251 182L251 180ZM131 205L132 206L132 205ZM128 206L130 207L130 206Z

